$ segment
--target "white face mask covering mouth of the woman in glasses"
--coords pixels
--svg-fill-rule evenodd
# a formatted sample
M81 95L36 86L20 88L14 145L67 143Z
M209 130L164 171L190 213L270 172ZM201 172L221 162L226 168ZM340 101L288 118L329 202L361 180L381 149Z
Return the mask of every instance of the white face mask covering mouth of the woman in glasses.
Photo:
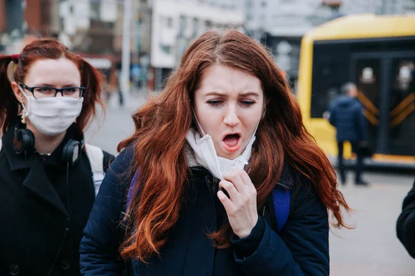
M26 111L26 117L44 135L56 136L66 131L81 113L83 97L81 99L70 97L35 99L35 97L28 97L20 86L19 89L28 100L27 108L21 103Z

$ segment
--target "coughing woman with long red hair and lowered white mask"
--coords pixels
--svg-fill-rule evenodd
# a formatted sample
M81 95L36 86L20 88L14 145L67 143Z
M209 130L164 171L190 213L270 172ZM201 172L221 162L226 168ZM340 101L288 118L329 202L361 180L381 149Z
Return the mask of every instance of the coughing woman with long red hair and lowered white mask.
M345 226L349 206L257 41L206 32L133 120L84 229L82 275L329 275L329 215Z

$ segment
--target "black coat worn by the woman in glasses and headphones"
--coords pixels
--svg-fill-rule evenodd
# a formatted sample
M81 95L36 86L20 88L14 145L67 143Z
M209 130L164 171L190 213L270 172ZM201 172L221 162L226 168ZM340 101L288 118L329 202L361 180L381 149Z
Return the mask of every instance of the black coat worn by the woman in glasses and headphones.
M45 157L17 155L13 137L10 127L0 152L0 275L48 275L50 269L50 275L79 275L82 230L95 200L89 159L82 152L66 174L61 158L73 137L69 130ZM104 152L104 164L110 159Z

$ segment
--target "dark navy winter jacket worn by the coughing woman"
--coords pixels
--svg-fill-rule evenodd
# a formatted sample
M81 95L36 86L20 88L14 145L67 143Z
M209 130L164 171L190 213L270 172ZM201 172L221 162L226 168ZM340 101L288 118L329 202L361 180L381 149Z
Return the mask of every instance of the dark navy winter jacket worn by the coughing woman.
M131 181L123 173L131 159L130 150L124 150L102 182L80 246L82 275L122 274L119 218ZM328 214L308 181L284 166L279 185L291 188L291 208L282 232L273 230L273 204L266 204L250 236L234 235L230 248L216 249L206 234L216 231L226 215L210 179L208 170L192 169L169 242L148 264L133 259L130 275L329 275Z

